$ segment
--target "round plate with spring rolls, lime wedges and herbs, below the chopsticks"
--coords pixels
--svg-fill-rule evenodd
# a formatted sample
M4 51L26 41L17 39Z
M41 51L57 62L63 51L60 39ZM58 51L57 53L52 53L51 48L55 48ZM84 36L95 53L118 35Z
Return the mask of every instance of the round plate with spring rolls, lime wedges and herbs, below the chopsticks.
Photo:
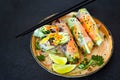
M38 64L55 75L83 77L101 69L113 48L110 32L86 8L36 29L31 51Z

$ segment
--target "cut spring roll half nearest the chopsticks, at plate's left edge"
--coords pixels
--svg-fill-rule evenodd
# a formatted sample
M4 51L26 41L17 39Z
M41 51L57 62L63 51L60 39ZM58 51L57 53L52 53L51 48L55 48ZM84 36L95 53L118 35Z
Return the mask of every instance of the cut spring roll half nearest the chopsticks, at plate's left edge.
M44 25L34 31L34 36L40 39L46 37L49 33L58 32L58 27L55 25Z

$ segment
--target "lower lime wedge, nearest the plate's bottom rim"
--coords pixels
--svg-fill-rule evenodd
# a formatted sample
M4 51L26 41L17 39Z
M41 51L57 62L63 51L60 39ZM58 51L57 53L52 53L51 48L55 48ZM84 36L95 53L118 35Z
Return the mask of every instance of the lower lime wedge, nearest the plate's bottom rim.
M65 74L72 71L76 65L67 64L67 65L59 65L59 64L52 64L53 71L59 74Z

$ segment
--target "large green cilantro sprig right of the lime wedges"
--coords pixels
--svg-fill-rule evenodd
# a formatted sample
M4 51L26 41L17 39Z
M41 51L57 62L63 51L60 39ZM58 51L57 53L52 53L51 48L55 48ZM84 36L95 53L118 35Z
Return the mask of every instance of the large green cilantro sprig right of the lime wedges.
M89 66L101 66L104 63L104 59L102 56L99 55L93 55L91 59L88 61L87 59L84 59L78 68L80 69L87 69Z

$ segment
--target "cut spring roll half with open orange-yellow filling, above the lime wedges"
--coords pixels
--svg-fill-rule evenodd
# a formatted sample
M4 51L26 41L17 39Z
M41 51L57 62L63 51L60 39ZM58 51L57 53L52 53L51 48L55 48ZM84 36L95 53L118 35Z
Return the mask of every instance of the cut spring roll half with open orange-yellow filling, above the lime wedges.
M47 51L56 46L63 45L70 40L70 36L65 32L50 33L40 40L39 45L42 51Z

